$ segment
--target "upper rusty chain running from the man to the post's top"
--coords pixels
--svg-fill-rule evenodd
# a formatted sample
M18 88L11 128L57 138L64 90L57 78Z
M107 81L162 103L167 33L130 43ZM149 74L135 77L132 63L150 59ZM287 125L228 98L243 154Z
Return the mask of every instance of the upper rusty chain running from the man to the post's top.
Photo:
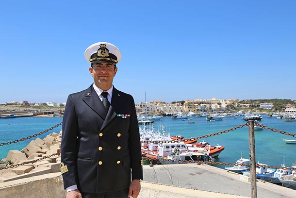
M162 143L175 143L175 142L177 143L177 142L185 142L185 141L199 140L199 139L203 139L203 138L207 138L207 137L213 137L215 135L221 135L223 133L227 133L227 132L230 132L230 131L235 131L235 130L241 129L244 126L247 126L247 125L248 125L248 123L240 124L240 125L238 125L236 127L232 127L230 129L226 129L224 131L214 132L214 133L211 133L211 134L208 134L208 135L199 136L199 137L192 137L192 138L189 138L189 139L170 140L170 141L168 141L168 140L166 140L166 141L144 141L144 140L142 140L141 143L148 143L148 144L150 144L150 143L158 144L159 143L159 144L162 144Z

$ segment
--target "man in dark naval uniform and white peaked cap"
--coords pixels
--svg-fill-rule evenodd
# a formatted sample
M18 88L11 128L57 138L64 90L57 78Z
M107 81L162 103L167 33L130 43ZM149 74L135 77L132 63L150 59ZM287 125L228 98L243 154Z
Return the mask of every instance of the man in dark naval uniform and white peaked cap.
M94 83L66 103L61 145L66 198L137 198L143 169L134 100L113 86L121 53L99 42L84 55Z

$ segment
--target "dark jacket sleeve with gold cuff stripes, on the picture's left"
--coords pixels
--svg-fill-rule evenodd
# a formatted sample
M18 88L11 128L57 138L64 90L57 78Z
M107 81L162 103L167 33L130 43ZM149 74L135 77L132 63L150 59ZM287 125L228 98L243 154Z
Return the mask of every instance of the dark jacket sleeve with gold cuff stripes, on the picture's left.
M63 117L61 143L61 173L63 175L65 189L77 184L77 134L78 119L75 113L73 98L69 95Z

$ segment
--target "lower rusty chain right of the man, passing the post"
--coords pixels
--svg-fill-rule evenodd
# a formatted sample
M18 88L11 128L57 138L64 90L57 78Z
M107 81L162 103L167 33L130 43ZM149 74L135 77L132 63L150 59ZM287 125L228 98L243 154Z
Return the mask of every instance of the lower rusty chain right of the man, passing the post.
M182 164L206 164L206 165L242 165L242 166L250 166L250 164L237 164L237 163L227 163L227 162L204 162L204 161L192 161L192 160L171 160L171 159L166 159L166 158L151 158L151 157L143 157L143 159L145 160L149 160L149 161L157 161L157 162L178 162L178 163L182 163ZM272 165L260 165L260 164L256 164L256 167L268 167L268 168L275 168L275 169L283 169L283 170L296 170L296 168L293 168L293 167L282 167L282 166L272 166Z

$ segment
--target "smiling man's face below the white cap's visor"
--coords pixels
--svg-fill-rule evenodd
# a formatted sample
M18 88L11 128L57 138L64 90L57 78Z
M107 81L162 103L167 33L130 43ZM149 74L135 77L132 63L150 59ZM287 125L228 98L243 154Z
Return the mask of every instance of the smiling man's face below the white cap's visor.
M112 63L93 63L92 67L89 67L89 71L94 78L95 85L106 91L112 87L117 67Z

